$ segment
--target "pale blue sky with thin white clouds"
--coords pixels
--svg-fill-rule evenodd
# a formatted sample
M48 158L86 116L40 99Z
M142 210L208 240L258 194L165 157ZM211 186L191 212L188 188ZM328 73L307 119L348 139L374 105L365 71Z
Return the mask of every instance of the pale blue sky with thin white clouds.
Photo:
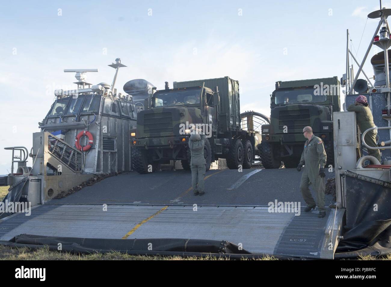
M367 15L378 9L378 0L4 2L0 174L11 172L4 147L30 150L54 89L75 82L64 69L97 68L88 82L111 83L115 70L107 65L119 57L127 66L118 72L119 91L135 78L162 89L165 81L229 76L239 80L241 112L269 116L276 81L342 77L346 29L361 61L378 23ZM369 61L364 71L372 77Z

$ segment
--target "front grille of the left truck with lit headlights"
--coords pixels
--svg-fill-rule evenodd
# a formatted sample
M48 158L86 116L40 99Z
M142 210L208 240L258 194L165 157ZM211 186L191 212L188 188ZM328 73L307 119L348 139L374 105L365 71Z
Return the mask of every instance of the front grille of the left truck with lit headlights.
M144 114L144 134L160 135L173 132L170 112Z

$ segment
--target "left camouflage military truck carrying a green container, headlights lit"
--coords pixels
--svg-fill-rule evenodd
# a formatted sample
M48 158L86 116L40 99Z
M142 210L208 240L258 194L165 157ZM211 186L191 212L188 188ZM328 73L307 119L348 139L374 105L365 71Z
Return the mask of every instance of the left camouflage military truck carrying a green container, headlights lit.
M242 130L240 121L238 81L224 77L174 82L173 89L166 82L166 88L155 91L138 113L131 130L133 168L147 173L158 164L180 160L189 170L188 140L194 126L206 128L206 170L219 158L226 159L230 169L250 168L255 132Z

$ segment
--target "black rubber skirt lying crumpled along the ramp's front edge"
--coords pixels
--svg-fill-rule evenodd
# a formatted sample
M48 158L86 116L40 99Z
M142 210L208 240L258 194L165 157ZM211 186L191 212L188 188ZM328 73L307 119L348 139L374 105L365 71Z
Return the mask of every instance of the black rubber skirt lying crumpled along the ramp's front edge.
M11 240L16 244L47 245L52 250L61 250L71 253L107 253L118 251L170 251L187 253L224 253L224 254L250 254L238 245L228 241L204 239L100 239L79 237L50 237L41 235L22 234Z

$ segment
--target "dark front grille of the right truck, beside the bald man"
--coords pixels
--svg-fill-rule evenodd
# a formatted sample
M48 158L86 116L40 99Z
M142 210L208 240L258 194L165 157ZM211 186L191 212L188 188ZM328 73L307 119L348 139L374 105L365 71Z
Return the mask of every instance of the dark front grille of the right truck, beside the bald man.
M280 111L278 115L278 128L283 130L284 126L288 127L288 133L292 130L303 129L311 125L309 110L287 110Z

